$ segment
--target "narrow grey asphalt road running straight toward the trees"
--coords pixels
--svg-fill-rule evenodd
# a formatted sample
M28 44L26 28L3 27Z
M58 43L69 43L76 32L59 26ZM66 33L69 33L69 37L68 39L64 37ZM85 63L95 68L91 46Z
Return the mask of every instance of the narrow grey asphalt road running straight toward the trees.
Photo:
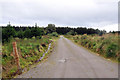
M118 64L61 36L47 61L17 78L118 78Z

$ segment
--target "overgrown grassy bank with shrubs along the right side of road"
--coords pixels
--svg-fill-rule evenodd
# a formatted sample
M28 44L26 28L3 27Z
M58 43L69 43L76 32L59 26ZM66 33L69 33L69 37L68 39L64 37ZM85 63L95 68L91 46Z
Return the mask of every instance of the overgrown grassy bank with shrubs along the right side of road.
M65 35L66 38L82 45L105 58L120 62L120 45L118 45L118 34L98 35Z

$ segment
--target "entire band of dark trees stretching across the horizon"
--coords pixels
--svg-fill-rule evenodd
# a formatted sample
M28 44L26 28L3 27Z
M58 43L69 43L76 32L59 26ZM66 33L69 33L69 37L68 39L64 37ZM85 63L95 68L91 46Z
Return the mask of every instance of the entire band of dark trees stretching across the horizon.
M9 42L11 38L32 38L37 37L41 38L42 35L48 35L53 33L53 35L82 35L82 34L105 34L105 30L98 30L93 28L70 28L70 27L55 27L54 24L48 24L47 27L39 27L35 26L11 26L8 24L7 26L2 26L2 42Z

